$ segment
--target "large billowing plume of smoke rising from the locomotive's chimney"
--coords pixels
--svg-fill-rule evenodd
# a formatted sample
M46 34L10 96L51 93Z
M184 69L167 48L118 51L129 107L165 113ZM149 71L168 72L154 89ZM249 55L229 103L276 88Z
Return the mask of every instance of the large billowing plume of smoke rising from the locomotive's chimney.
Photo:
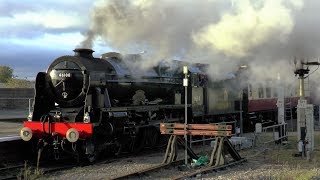
M101 0L81 46L101 37L121 53L146 51L141 67L173 57L208 63L214 79L243 62L257 81L276 78L280 66L288 70L282 77L293 77L288 44L303 7L302 0Z

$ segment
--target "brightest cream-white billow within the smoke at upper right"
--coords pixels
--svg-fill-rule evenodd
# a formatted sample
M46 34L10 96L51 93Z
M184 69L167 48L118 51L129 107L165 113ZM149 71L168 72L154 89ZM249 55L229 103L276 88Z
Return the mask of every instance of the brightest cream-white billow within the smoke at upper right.
M231 12L224 13L219 22L203 27L193 39L200 47L236 57L248 56L253 48L270 39L286 41L294 20L284 2L234 1ZM294 2L293 8L301 8L302 3Z

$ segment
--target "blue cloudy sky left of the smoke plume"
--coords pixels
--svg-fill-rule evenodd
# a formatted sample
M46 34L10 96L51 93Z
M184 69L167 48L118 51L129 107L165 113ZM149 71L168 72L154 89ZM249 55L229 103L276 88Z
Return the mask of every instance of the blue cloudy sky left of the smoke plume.
M18 78L33 79L39 71L84 39L92 0L0 0L0 65ZM99 45L100 44L100 45ZM110 51L95 43L95 56Z

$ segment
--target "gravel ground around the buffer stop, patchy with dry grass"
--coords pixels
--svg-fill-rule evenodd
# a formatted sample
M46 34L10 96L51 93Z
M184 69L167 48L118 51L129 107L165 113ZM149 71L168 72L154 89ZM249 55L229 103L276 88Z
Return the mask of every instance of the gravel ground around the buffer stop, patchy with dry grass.
M291 138L291 139L294 139ZM241 165L203 174L196 179L320 179L320 148L316 148L312 159L292 157L294 146L270 146L267 149L253 148L241 151L248 162ZM199 151L198 151L199 152ZM73 168L45 175L40 179L112 179L121 175L156 166L161 163L164 152L152 155L119 159L109 164ZM180 158L183 151L179 152ZM170 179L184 173L177 168L152 173L152 177L139 179Z

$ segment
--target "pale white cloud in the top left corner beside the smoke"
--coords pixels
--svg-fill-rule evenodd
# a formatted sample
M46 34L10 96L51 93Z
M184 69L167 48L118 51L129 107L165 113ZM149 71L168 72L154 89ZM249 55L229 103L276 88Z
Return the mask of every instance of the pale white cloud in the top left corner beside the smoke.
M28 3L27 3L28 2ZM0 4L0 35L34 38L43 33L83 32L92 1L21 1Z

